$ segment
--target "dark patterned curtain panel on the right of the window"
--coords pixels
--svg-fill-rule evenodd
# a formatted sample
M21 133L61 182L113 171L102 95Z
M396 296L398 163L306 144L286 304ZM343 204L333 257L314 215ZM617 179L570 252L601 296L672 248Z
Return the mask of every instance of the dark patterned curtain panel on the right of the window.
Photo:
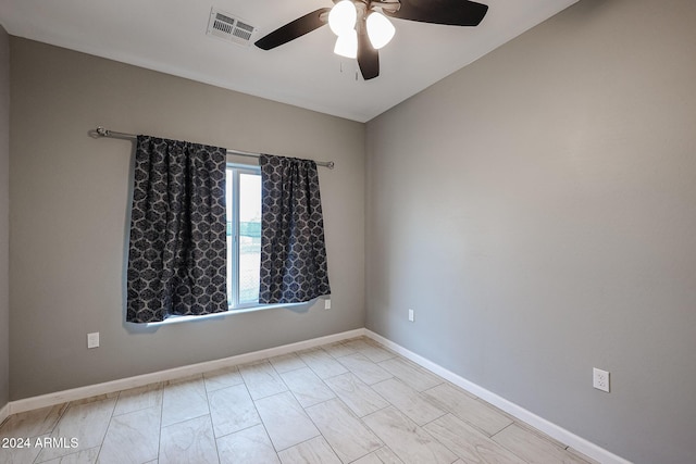
M259 302L300 303L331 293L316 163L262 154Z

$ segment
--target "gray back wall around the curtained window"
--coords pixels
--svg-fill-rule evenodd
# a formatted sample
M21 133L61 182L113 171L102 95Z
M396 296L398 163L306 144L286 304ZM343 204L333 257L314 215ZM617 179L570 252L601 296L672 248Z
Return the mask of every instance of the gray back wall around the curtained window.
M364 326L364 125L11 38L10 397L231 356ZM315 160L333 308L124 327L133 145L97 125ZM87 350L86 335L101 333Z

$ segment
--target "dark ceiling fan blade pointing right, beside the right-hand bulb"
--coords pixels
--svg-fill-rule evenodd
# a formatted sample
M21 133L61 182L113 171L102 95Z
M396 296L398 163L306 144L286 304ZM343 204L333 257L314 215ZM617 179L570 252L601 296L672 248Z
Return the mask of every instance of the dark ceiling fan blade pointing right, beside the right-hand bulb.
M387 16L449 26L477 26L488 5L469 0L400 0L401 8Z

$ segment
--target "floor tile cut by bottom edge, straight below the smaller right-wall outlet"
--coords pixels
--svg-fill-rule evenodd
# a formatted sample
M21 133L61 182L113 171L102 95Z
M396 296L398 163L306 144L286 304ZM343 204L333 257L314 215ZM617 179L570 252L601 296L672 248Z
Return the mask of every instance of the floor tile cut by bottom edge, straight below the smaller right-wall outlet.
M406 464L451 464L457 460L451 451L394 406L370 414L363 421Z

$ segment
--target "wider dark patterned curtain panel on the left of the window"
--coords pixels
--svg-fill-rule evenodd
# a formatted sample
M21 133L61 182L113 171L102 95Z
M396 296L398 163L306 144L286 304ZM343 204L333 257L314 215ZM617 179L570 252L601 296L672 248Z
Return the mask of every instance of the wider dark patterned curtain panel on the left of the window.
M138 136L126 321L227 311L225 161L224 148Z

